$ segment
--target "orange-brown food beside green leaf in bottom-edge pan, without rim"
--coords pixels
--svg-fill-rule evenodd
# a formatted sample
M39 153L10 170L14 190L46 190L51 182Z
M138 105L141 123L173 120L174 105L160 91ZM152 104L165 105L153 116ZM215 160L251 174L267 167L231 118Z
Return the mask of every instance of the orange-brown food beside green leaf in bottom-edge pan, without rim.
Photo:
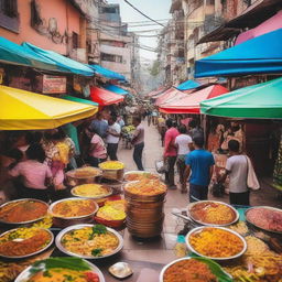
M218 280L206 263L191 259L178 261L166 269L163 281L217 282Z

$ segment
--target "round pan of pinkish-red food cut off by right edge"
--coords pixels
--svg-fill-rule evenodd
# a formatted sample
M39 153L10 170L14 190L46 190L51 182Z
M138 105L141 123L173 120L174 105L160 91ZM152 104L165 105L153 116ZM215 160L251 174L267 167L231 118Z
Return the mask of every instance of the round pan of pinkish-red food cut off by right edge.
M282 209L258 206L245 212L246 220L251 225L270 232L282 234Z

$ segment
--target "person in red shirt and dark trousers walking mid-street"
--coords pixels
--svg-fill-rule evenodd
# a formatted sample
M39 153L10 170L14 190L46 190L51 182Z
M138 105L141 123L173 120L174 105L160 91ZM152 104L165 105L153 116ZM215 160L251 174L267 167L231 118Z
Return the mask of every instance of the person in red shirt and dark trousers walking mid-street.
M163 158L164 162L169 165L167 172L165 172L165 182L169 185L169 188L176 189L176 185L174 183L174 165L177 156L175 138L180 134L180 132L175 127L173 127L174 122L172 119L167 119L165 124L167 130L164 135Z

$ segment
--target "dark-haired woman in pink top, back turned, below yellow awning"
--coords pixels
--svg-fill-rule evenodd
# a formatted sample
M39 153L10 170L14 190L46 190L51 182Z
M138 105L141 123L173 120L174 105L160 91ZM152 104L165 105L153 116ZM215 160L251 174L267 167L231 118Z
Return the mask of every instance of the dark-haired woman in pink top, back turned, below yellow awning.
M10 175L13 177L22 177L22 186L20 187L21 198L37 198L44 202L50 200L47 187L52 183L52 173L50 167L43 163L45 152L41 144L32 144L26 150L28 160L18 163Z

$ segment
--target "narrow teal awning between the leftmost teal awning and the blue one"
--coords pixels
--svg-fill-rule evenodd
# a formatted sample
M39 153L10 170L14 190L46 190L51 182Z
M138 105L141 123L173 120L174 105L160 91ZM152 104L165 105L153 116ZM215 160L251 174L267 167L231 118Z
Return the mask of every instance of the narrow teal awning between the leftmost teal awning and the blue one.
M76 62L72 58L59 55L56 52L40 48L40 47L37 47L31 43L28 43L28 42L24 42L22 44L22 46L28 52L31 52L40 57L51 59L57 66L67 69L67 72L69 72L69 73L77 74L77 75L84 75L84 76L93 76L94 75L94 70L91 68L89 68L88 66L86 66L79 62Z

